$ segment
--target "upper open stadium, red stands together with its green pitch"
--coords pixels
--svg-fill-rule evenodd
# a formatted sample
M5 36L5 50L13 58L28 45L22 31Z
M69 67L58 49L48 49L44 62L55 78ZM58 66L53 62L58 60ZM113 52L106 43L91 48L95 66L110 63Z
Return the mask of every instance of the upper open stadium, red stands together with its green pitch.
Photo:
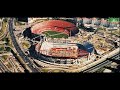
M48 20L31 27L34 34L44 34L51 38L67 38L78 33L78 28L70 22L63 20Z

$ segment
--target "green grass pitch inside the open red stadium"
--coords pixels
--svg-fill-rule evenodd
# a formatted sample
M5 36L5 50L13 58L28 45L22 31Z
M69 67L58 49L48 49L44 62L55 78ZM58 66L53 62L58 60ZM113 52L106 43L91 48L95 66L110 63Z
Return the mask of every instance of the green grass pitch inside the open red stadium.
M44 34L51 38L68 38L68 35L56 31L45 31Z

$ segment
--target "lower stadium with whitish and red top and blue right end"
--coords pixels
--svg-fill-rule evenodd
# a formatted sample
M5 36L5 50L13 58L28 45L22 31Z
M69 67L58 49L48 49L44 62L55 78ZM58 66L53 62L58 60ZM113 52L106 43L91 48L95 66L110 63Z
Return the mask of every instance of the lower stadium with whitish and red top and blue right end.
M58 57L58 58L78 58L82 56L88 56L93 51L93 46L89 43L84 45L77 43L53 43L43 42L38 43L35 50L46 56Z

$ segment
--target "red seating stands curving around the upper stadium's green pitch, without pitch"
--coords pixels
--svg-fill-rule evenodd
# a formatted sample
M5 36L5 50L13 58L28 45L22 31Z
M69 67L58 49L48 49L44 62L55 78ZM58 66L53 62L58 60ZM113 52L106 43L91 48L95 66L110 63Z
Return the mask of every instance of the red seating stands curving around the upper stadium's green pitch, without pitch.
M65 29L67 29L65 31ZM70 22L63 21L63 20L49 20L38 23L34 25L32 28L32 33L34 34L41 34L45 31L56 31L60 33L64 33L69 35L70 31L77 30L76 26Z

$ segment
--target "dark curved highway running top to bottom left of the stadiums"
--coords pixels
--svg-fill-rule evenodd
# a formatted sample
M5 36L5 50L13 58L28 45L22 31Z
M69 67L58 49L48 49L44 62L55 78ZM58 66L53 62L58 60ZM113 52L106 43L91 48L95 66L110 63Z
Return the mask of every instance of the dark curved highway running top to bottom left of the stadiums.
M10 19L8 23L9 23L8 30L9 30L13 45L16 48L16 51L19 54L19 56L22 58L23 63L25 65L25 69L29 72L39 72L39 70L34 67L34 63L29 60L29 58L23 53L23 51L19 47L19 44L17 43L16 37L15 37L14 32L13 32L13 30L14 30L13 29L13 20Z

